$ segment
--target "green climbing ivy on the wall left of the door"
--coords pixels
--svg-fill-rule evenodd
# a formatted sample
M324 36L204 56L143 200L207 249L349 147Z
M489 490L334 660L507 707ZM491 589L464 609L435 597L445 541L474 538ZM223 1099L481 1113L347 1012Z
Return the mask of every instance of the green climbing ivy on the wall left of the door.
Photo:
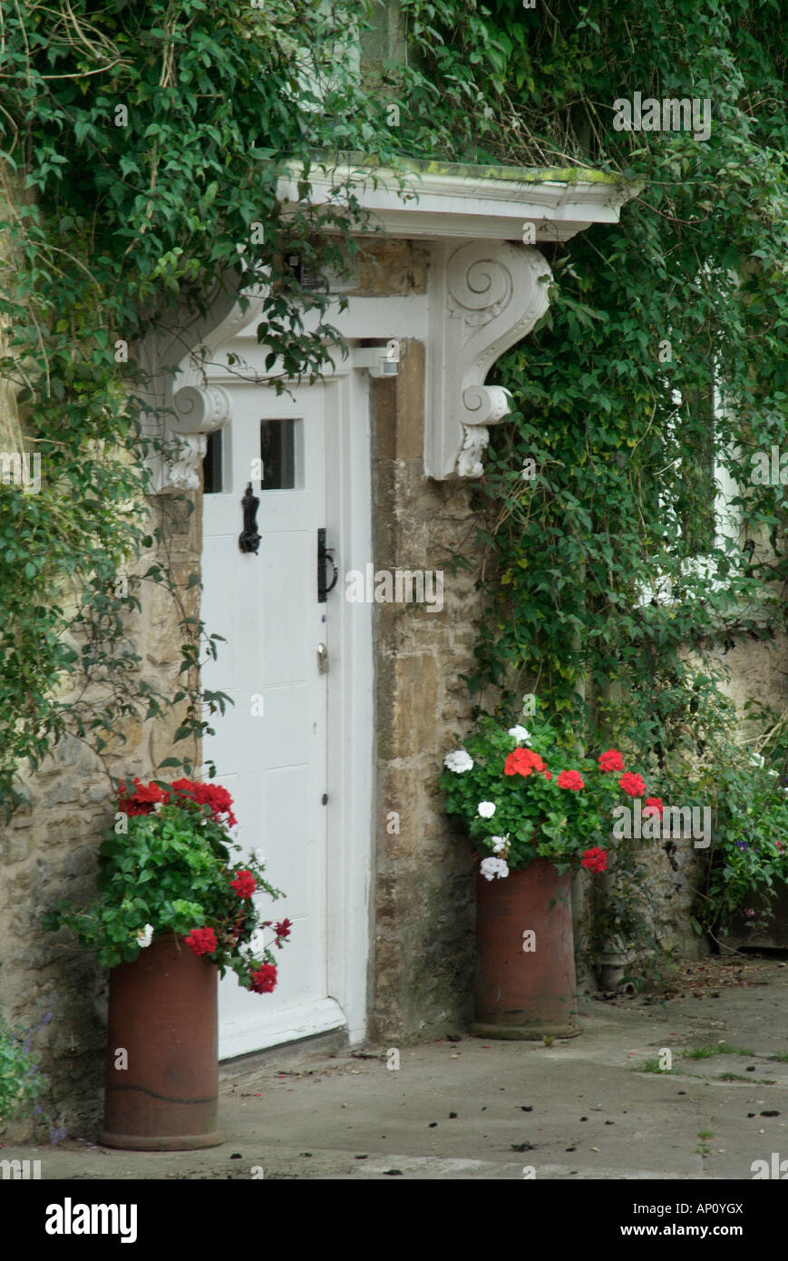
M340 271L362 222L349 179L337 179L325 206L309 204L310 154L335 155L340 127L342 148L392 156L386 129L366 121L348 55L366 10L308 0L19 0L4 10L6 816L20 801L20 769L38 765L66 733L101 754L117 752L132 715L182 706L174 738L190 752L166 760L193 769L206 728L197 666L214 646L188 599L198 576L184 590L168 559L168 540L193 503L146 499L151 456L166 444L151 439L135 348L199 311L235 269L266 285L266 380L282 388L287 377L320 373L337 340L329 296L303 286L289 260L296 255L318 276ZM279 193L285 164L299 180L301 200L291 206ZM40 472L35 487L19 475L30 467ZM144 584L163 585L179 603L183 686L174 695L145 682L129 636Z

